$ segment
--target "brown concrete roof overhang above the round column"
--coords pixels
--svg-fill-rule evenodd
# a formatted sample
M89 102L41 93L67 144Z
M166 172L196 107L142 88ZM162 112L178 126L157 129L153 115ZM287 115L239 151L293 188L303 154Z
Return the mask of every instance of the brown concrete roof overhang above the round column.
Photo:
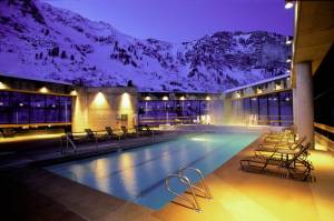
M312 62L314 74L334 42L334 1L296 1L294 36L293 87L295 64Z

